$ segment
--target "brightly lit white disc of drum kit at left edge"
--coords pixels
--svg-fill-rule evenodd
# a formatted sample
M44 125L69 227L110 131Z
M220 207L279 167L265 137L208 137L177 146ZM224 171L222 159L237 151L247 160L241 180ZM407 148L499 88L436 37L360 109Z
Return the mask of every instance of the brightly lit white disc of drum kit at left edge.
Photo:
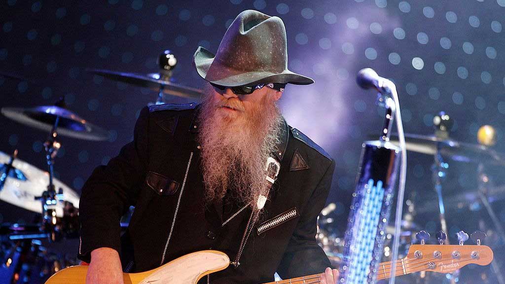
M11 157L3 152L0 152L0 165L9 163ZM16 178L7 177L4 187L0 191L0 200L7 203L19 206L21 208L42 213L42 204L40 200L35 200L35 197L42 195L42 192L47 190L47 181L49 174L42 171L29 163L15 159L12 166L21 173ZM1 174L5 171L5 166L0 169ZM63 196L59 196L60 200L71 202L74 207L79 206L79 196L65 183L57 178L53 178L56 191L63 189ZM58 202L56 205L56 216L63 217L63 202Z

